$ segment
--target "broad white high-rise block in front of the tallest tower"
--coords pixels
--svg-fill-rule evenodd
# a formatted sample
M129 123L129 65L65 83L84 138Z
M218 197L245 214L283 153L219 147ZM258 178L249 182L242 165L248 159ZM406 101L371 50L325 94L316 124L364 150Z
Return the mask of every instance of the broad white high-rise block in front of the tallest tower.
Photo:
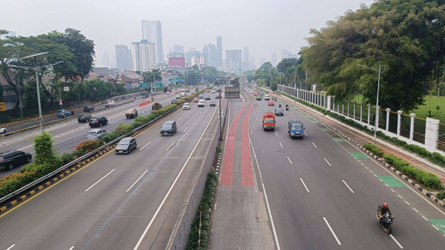
M140 40L131 42L131 56L133 56L133 70L147 72L156 64L155 47L153 42Z

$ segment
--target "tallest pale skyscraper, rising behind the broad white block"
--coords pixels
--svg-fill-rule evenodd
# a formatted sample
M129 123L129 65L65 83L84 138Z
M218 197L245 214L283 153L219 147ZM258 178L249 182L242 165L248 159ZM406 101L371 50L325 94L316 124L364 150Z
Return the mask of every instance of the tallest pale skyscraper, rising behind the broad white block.
M156 63L164 62L164 52L162 47L162 27L159 20L142 21L142 39L154 43L156 51Z

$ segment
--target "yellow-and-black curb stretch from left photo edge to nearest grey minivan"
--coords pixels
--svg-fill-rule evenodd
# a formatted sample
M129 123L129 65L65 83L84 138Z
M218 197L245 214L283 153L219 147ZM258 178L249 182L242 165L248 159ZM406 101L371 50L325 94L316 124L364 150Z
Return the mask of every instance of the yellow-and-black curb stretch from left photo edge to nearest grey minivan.
M8 201L8 203L6 203L6 204L4 204L4 206L0 207L0 215L2 213L4 213L6 210L8 210L9 208L13 208L13 206L17 205L19 202L24 201L24 200L28 199L29 197L32 197L35 194L38 194L38 192L44 190L45 188L48 188L49 186L53 185L54 183L57 183L61 179L76 172L81 167L88 165L93 160L96 160L97 158L103 156L105 153L108 153L108 151L111 151L113 149L115 149L114 146L106 147L105 149L102 149L102 151L97 152L94 156L91 156L90 158L83 160L83 161L77 163L76 165L73 165L70 168L63 169L63 171L61 171L60 174L58 174L54 178L51 178L49 181L45 181L44 183L41 183L37 187L33 188L33 190L30 190L24 194L21 194L18 197L13 198L12 201Z

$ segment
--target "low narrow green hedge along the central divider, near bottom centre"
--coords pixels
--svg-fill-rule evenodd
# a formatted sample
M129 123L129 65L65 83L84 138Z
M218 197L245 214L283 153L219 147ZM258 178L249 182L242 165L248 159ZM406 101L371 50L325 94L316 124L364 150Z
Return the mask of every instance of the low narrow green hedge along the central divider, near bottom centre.
M216 182L218 176L214 171L207 174L207 181L204 186L204 192L202 193L202 199L200 206L196 210L195 218L191 225L190 233L188 234L186 250L206 250L209 244L209 233L210 233L210 215L211 215L211 205L213 203L213 194L216 189ZM199 237L200 230L200 210L202 209L201 216L201 238ZM198 247L198 239L200 239L201 246Z

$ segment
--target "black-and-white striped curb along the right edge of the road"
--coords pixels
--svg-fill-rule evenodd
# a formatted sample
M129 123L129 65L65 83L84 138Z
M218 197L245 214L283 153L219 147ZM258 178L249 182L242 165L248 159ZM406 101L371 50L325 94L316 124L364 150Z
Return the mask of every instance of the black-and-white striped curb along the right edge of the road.
M423 194L426 195L426 197L428 197L431 201L434 201L435 203L437 203L439 206L441 206L442 208L445 209L445 203L440 200L437 199L437 197L435 197L434 194L428 192L428 190L426 190L425 188L422 188L419 184L416 184L414 181L412 181L412 179L410 179L408 176L405 176L405 174L403 174L402 172L398 171L396 168L391 167L391 165L389 165L388 163L385 162L385 160L383 158L378 158L378 156L375 156L371 151L369 151L368 149L365 149L362 145L360 145L358 142L355 142L355 140L353 140L352 138L348 137L348 135L342 133L341 131L337 130L337 128L334 128L333 126L331 126L330 124L327 124L324 120L322 119L318 119L319 122L322 122L325 126L329 127L332 131L334 131L335 133L337 133L338 135L341 135L343 138L346 138L348 141L353 142L353 144L357 145L359 147L359 149L362 149L362 151L366 152L369 156L371 156L372 158L374 158L375 160L377 160L381 165L387 167L388 169L390 169L392 172L396 173L398 176L400 176L401 178L403 178L403 180L409 184L411 184L414 188L416 188L417 190L419 190L420 192L422 192Z

